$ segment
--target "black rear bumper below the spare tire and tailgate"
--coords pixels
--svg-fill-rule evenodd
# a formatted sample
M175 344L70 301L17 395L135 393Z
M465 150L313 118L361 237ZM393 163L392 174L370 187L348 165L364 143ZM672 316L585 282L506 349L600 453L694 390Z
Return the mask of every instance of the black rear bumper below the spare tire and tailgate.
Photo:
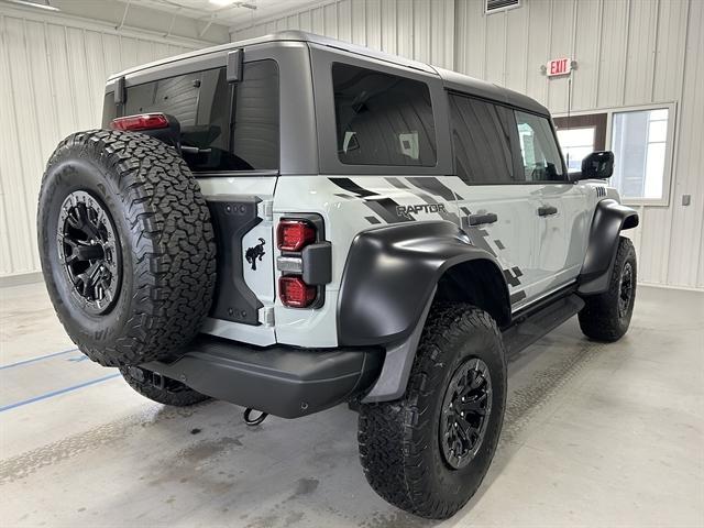
M201 394L284 418L333 407L367 389L381 349L258 349L200 336L176 361L141 365Z

